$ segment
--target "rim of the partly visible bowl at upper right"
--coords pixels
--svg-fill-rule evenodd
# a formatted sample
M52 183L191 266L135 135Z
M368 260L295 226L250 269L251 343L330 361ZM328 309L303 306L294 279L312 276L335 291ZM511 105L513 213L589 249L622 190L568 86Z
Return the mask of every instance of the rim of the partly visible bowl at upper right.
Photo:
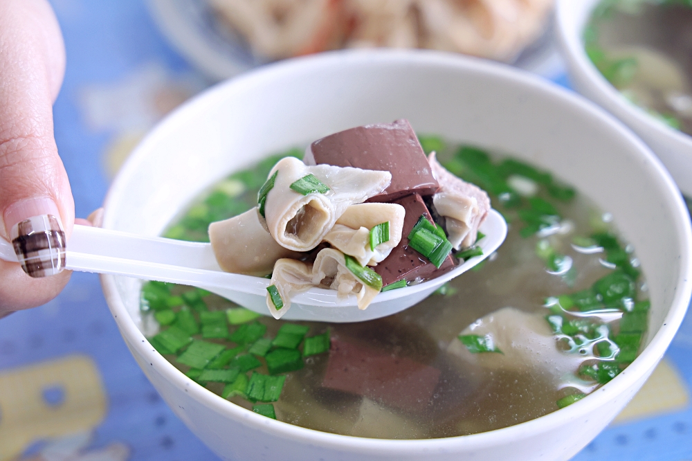
M557 35L559 42L562 44L563 52L567 54L567 58L572 60L579 70L586 75L588 81L592 84L592 88L598 91L601 96L607 98L608 102L619 111L619 113L616 114L618 117L631 117L635 120L635 123L645 125L648 129L653 129L656 136L671 138L675 142L684 145L684 147L688 147L689 151L687 152L692 153L692 135L669 127L661 120L656 120L647 114L644 109L626 100L621 93L603 77L603 74L599 72L586 54L581 35L573 33L579 32L580 30L581 33L583 33L586 24L582 25L580 28L567 26L567 24L574 25L577 19L573 14L570 14L570 8L581 8L581 11L584 12L587 17L590 17L592 11L599 3L601 3L601 0L578 2L574 0L557 1L554 21L557 24ZM680 154L684 154L684 151L680 152Z

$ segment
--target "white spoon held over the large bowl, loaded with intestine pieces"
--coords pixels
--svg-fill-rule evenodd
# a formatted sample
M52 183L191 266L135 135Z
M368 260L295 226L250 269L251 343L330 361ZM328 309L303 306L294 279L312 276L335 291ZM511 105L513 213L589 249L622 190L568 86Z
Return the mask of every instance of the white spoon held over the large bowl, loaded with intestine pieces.
M293 297L291 309L282 318L346 323L403 311L491 255L504 242L507 223L500 213L491 210L480 231L485 237L477 245L483 249L483 255L471 257L434 280L380 293L363 311L356 306L355 296L339 301L334 290L310 289ZM191 285L260 314L269 314L265 301L269 280L221 271L210 244L75 225L67 248L66 267L73 271ZM17 262L12 245L1 237L0 259Z

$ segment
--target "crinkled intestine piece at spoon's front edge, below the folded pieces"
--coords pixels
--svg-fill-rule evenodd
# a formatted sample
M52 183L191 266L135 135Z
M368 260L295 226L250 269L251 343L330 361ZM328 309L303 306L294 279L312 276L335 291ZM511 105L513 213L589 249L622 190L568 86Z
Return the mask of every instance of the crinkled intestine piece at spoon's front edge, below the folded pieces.
M334 248L325 248L318 253L312 267L312 282L316 286L338 291L339 298L355 293L358 309L366 309L379 290L369 287L349 271L343 253Z

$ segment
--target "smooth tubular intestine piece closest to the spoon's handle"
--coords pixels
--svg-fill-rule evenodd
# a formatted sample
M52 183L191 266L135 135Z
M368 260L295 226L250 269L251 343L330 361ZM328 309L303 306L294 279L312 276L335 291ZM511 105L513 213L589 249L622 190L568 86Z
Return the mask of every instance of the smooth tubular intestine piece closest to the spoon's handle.
M280 258L299 257L276 243L260 222L256 207L210 224L209 239L219 266L226 272L267 275Z

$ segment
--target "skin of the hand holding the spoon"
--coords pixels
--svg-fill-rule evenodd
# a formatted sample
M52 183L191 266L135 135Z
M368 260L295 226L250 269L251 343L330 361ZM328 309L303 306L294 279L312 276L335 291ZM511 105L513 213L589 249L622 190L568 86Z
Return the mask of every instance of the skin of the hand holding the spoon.
M53 136L53 102L62 85L65 50L46 0L0 0L0 235L22 216L17 203L55 201L66 236L74 201ZM25 202L26 203L26 202ZM0 260L0 318L55 298L70 271L30 278Z

